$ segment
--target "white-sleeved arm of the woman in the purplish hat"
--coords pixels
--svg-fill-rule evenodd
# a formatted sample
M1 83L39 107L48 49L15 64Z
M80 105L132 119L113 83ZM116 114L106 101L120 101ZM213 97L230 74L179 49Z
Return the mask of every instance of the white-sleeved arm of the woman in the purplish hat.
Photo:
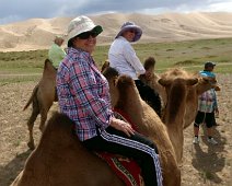
M124 46L124 56L125 56L127 62L129 62L134 67L134 69L136 70L136 72L138 74L146 73L144 67L140 62L139 58L136 55L135 49L132 48L132 46L129 43L125 44L125 46Z

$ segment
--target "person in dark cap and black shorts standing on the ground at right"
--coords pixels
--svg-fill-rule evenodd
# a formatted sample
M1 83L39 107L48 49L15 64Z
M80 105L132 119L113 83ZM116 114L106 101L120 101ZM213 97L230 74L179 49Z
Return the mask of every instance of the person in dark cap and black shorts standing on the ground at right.
M216 78L216 74L212 72L216 63L207 61L205 63L204 71L200 71L200 75ZM204 92L198 98L198 112L194 123L194 141L193 143L199 143L199 126L205 123L207 127L207 141L212 144L218 144L218 142L212 137L213 126L216 126L216 115L219 115L218 102L216 91L219 91L220 88L210 89Z

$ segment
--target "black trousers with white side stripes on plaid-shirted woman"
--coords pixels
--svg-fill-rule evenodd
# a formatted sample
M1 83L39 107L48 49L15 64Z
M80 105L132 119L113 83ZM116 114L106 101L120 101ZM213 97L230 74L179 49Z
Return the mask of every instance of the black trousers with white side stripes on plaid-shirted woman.
M100 131L98 136L83 141L83 144L91 151L105 151L134 159L141 167L146 186L162 185L156 147L140 133L128 137L109 126Z

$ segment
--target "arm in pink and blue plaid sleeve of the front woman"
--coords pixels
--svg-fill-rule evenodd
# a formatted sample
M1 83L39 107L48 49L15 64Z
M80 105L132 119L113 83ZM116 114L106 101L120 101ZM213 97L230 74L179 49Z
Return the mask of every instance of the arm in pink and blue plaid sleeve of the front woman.
M109 118L113 115L109 101L100 97L98 90L103 88L96 84L95 75L88 61L78 60L70 68L71 93L76 96L76 105L104 129L109 125Z

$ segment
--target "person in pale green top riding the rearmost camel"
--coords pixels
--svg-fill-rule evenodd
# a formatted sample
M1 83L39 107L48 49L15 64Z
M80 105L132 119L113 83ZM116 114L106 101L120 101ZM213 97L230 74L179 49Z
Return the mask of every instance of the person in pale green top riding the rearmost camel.
M59 67L60 61L66 56L66 51L61 48L63 40L65 39L61 36L56 36L54 39L54 44L48 50L48 59L53 62L56 69Z

